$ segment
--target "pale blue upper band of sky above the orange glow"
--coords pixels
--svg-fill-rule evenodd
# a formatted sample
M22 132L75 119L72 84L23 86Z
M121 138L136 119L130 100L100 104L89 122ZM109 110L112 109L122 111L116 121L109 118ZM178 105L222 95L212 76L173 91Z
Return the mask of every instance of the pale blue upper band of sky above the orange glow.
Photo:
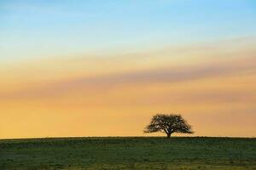
M253 0L0 2L1 59L161 48L255 30Z

